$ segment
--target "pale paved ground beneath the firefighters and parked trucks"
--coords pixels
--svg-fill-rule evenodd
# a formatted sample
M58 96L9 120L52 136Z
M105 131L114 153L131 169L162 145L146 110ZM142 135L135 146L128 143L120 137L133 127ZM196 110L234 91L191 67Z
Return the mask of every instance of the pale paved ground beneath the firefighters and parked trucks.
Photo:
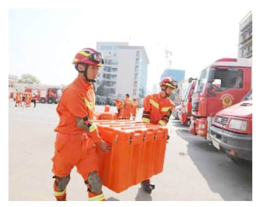
M9 101L9 200L54 200L51 158L58 124L56 104L14 107ZM103 106L96 106L103 111ZM111 107L111 111L116 111ZM137 114L141 120L142 110ZM141 185L115 193L103 186L107 200L252 200L252 165L236 164L208 141L188 133L172 117L164 170L151 179L149 195ZM125 178L124 178L125 179ZM88 200L86 186L74 168L68 200Z

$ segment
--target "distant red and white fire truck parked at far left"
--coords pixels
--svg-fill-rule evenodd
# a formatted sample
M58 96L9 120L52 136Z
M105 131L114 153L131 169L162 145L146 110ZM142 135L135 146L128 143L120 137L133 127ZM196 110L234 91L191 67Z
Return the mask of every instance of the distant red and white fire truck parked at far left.
M36 101L41 103L58 103L62 96L62 87L54 85L42 85L42 84L14 84L15 92L13 95L15 98L16 92L19 93L35 93Z

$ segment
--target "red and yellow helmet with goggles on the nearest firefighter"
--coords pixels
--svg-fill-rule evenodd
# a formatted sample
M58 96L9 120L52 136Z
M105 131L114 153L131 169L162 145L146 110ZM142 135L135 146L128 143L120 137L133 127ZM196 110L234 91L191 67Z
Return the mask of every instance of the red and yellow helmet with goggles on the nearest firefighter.
M76 54L72 62L72 64L78 63L86 63L101 67L102 64L104 64L103 55L92 48L84 48Z

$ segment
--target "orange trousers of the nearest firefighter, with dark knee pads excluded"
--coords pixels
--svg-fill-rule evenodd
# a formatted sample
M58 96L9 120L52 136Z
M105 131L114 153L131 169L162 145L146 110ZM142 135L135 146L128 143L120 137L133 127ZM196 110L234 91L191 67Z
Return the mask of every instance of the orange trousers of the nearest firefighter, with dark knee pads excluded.
M86 134L67 135L57 133L55 142L55 152L52 158L52 172L56 177L65 177L70 174L74 166L84 180L87 180L90 172L98 170L98 157L96 154L95 143ZM90 189L89 184L87 184ZM66 200L66 189L58 191L56 181L53 184L54 196L57 200ZM95 195L88 191L89 200L105 200L103 193Z

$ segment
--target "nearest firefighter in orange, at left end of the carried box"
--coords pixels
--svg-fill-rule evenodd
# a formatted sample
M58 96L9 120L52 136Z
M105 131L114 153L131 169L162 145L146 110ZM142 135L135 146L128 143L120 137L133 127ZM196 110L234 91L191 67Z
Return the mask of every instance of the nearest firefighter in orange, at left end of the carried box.
M57 106L60 120L54 129L57 132L52 158L54 196L57 200L66 200L70 172L76 166L87 185L89 200L105 200L97 174L95 146L103 152L108 152L111 147L101 140L97 126L92 122L95 107L92 82L95 82L98 68L103 64L103 57L92 48L84 48L76 54L73 64L78 76L66 86Z

